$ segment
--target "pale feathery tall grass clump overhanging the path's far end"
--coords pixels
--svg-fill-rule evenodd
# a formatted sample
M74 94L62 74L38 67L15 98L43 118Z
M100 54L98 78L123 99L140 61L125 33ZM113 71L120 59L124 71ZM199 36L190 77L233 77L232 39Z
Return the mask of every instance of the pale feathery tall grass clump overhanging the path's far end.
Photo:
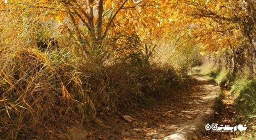
M170 64L181 74L188 74L193 67L202 65L203 57L198 53L200 47L191 42L188 32L180 29L180 31L163 35L164 39L160 38L157 42L161 45L157 47L153 60L157 63ZM168 36L167 39L166 36Z

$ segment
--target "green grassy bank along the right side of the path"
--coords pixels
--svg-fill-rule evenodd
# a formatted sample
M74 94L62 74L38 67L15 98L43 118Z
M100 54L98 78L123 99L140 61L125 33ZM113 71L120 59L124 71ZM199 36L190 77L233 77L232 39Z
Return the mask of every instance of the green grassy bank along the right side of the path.
M202 66L202 74L215 79L221 88L228 90L234 98L237 123L248 125L246 134L237 139L255 139L256 79L247 68L232 73L220 65L208 63Z

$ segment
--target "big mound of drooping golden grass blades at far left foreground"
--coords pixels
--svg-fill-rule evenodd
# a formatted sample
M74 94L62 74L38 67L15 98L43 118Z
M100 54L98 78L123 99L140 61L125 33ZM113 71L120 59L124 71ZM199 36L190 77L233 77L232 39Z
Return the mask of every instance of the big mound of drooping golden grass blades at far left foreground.
M72 108L88 102L86 99L79 102L66 88L77 82L76 74L56 68L42 52L22 49L5 64L8 66L1 69L0 75L0 129L6 135L4 138L36 134L47 121L56 121L61 115L71 113ZM67 74L61 74L58 69Z

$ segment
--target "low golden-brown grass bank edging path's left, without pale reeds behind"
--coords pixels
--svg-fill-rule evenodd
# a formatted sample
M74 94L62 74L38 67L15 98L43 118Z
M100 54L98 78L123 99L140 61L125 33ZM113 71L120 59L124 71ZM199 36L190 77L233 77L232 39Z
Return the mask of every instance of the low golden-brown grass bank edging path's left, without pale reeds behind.
M12 57L1 66L1 139L46 137L47 125L90 123L102 107L150 107L181 82L172 68L145 65L139 56L102 65L68 53L19 49L3 55Z

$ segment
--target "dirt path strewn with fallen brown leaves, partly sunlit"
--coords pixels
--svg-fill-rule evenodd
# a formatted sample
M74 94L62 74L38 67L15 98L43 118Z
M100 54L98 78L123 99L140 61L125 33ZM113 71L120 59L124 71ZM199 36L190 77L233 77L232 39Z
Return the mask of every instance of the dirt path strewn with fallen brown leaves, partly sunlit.
M99 127L80 129L76 134L74 128L70 128L67 134L73 132L68 139L172 139L172 134L176 135L177 131L183 133L184 127L194 126L199 116L205 113L205 107L220 92L214 82L202 77L195 77L188 87L159 101L153 109L125 110L115 115L102 113ZM202 117L199 120L202 121ZM198 136L191 137L198 139Z

